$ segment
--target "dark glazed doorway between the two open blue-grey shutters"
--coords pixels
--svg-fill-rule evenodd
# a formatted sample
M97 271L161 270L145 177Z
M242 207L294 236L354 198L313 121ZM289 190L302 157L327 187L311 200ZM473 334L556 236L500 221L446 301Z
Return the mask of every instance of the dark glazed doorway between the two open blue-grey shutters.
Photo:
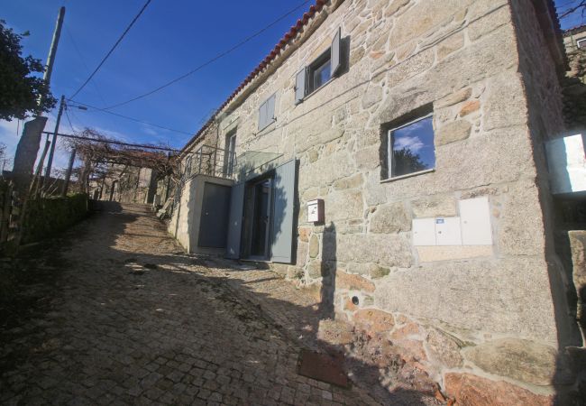
M270 226L273 206L273 178L263 178L252 181L247 188L246 212L248 221L245 221L244 238L248 246L250 259L268 260L270 258Z

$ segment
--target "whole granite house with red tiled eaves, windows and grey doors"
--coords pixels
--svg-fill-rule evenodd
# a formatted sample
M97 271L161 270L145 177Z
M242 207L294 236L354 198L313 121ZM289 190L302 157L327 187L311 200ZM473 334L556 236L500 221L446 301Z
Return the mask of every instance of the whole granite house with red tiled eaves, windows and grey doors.
M563 401L565 70L549 0L318 0L183 149L169 232L270 263L459 404Z

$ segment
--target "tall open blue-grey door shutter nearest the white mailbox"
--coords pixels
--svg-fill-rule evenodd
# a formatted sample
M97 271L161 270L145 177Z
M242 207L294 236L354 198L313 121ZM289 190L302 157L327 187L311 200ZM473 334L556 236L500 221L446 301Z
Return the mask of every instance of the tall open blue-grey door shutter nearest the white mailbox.
M275 170L270 260L291 263L295 217L295 160Z

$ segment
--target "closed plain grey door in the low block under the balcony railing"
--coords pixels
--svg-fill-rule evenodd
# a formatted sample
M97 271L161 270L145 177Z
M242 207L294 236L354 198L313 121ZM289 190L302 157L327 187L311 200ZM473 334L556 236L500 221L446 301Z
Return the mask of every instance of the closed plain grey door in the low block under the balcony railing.
M225 247L229 208L230 187L206 182L201 206L198 246Z

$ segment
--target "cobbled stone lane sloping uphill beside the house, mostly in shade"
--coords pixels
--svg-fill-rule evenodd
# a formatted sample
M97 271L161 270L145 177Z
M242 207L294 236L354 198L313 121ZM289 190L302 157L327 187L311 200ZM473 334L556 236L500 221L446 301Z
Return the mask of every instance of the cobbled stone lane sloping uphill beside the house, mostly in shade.
M316 300L183 254L140 206L36 251L23 305L0 318L0 404L431 404L298 375L301 348L319 347Z

